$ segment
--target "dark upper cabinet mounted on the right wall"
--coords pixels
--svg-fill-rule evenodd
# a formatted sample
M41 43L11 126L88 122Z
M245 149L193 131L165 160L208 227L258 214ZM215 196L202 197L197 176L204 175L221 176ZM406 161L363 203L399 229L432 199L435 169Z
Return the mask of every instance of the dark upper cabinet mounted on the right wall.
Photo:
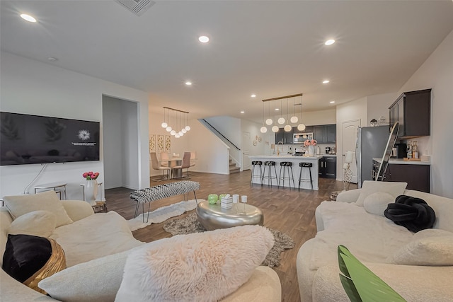
M431 134L431 89L405 92L389 110L390 127L399 122L398 138L411 139Z

